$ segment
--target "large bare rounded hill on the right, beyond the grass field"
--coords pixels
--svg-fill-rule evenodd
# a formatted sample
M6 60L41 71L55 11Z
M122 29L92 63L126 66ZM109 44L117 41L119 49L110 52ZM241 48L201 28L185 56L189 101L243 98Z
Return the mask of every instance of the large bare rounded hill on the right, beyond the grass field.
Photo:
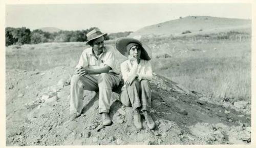
M132 33L134 36L183 36L186 31L190 34L211 34L229 31L251 32L251 20L219 18L210 16L187 16L150 26L145 26ZM188 34L185 34L188 35Z

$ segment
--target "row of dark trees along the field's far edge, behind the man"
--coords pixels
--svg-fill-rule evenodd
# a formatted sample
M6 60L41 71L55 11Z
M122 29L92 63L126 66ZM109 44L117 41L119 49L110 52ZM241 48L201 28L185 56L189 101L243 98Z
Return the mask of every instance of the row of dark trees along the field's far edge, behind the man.
M94 28L91 27L81 31L59 31L54 33L44 32L40 29L30 31L26 27L6 27L5 29L5 43L6 46L18 44L38 44L46 42L85 42L87 41L86 34L92 31ZM125 37L130 35L132 32L114 33L105 37L105 40L115 39L119 37Z

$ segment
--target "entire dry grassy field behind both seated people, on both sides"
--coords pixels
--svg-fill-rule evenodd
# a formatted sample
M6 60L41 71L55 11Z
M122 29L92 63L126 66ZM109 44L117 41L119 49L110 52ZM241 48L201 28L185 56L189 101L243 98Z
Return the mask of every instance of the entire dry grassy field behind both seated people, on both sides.
M206 96L229 100L251 98L250 39L207 39L205 37L146 39L153 49L152 65L156 73L176 81L189 90ZM114 45L114 41L106 44ZM56 66L74 67L84 43L44 43L9 46L7 69L47 70ZM116 53L118 63L123 56ZM164 56L168 54L171 57ZM156 58L158 57L158 58Z

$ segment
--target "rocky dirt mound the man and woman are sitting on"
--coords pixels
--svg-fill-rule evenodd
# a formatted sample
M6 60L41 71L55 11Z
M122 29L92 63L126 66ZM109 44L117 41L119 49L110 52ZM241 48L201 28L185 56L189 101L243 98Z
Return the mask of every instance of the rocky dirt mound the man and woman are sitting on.
M73 68L6 72L6 143L16 145L245 144L250 143L250 112L210 102L179 84L154 75L156 128L133 125L131 107L112 94L111 126L101 125L98 93L84 91L82 115L68 122ZM202 99L203 98L203 99Z

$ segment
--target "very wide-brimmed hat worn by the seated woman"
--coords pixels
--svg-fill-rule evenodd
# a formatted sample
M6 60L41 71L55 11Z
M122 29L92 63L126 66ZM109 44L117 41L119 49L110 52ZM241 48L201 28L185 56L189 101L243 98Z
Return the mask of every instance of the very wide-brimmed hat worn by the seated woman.
M124 56L128 56L129 55L129 50L127 50L127 45L130 43L137 43L139 44L142 49L141 49L141 55L140 58L143 60L147 60L150 61L151 57L152 57L152 51L150 49L150 47L148 47L146 44L144 44L143 42L134 39L134 38L127 38L127 37L122 37L122 38L118 38L116 40L116 49Z

